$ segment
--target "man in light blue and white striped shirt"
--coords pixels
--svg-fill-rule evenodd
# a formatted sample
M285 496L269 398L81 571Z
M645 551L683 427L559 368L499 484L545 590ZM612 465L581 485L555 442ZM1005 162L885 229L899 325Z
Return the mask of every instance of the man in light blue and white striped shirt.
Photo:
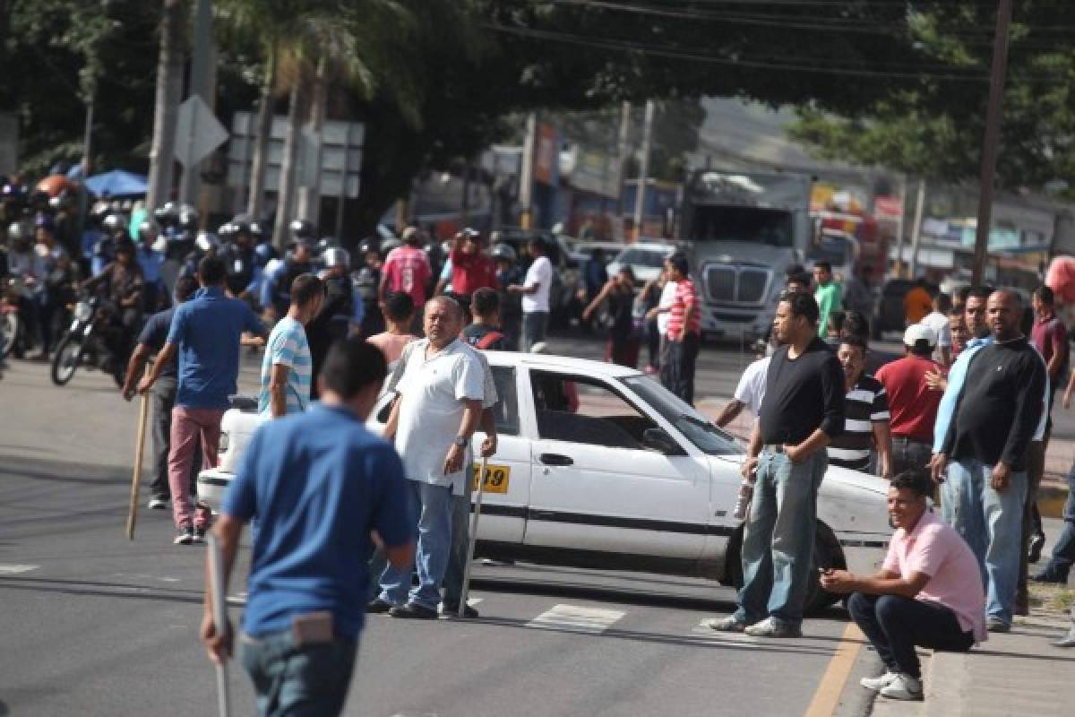
M269 335L261 361L258 413L263 418L302 413L310 405L313 359L305 325L324 301L325 282L316 275L300 274L291 282L291 305Z

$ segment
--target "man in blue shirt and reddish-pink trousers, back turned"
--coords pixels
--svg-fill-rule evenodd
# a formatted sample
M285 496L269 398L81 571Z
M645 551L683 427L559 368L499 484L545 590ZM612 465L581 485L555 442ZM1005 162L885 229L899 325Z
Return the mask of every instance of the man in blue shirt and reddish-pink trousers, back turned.
M239 346L243 332L264 335L264 327L249 305L224 293L227 269L217 257L198 264L202 288L195 298L175 310L168 341L149 373L139 383L140 393L156 383L164 367L180 357L175 407L172 408L172 446L168 455L168 483L172 489L172 517L178 534L176 545L204 539L207 516L190 505L187 476L194 460L195 441L200 435L202 464L216 464L220 441L220 418L228 397L235 393L239 377Z

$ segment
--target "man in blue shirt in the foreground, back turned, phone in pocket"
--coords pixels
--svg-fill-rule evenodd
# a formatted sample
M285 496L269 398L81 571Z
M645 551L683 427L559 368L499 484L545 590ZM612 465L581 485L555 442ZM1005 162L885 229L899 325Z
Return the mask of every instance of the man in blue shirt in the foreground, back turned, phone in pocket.
M363 426L386 371L364 341L333 345L320 403L258 428L214 528L226 590L243 526L258 521L240 641L259 714L340 714L366 618L371 531L393 565L412 563L403 464ZM201 636L211 660L231 654L207 589Z

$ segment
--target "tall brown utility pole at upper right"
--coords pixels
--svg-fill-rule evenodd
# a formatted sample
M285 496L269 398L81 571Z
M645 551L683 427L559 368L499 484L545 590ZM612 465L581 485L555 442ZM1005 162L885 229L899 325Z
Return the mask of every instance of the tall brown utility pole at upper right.
M985 278L989 252L989 229L992 225L993 184L997 176L997 152L1000 144L1001 112L1004 106L1004 78L1007 73L1008 26L1012 24L1012 0L1000 0L997 6L997 35L993 38L993 66L989 75L989 109L986 113L986 137L981 147L981 193L978 199L978 226L974 238L972 284Z

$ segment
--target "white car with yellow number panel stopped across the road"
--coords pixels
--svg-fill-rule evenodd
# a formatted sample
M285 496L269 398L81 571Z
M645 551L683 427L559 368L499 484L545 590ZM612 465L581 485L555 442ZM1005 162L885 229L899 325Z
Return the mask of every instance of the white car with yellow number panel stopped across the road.
M486 354L500 400L477 553L483 557L639 570L742 583L743 528L732 517L743 449L649 376L562 356ZM368 426L382 431L391 396ZM199 494L220 504L257 416L229 412L221 468ZM476 449L484 435L477 433ZM476 470L476 467L475 467ZM836 600L815 567L873 573L890 529L888 483L830 468L818 498L809 608Z

